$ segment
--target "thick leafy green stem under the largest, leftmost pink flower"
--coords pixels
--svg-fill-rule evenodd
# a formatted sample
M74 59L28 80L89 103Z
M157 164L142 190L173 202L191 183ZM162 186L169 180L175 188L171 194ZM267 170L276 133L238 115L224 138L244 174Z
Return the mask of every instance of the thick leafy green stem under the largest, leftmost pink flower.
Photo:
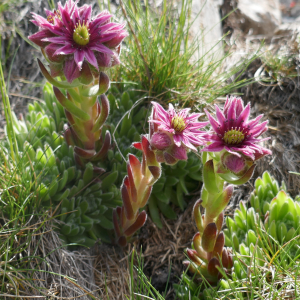
M111 137L108 131L104 141L101 139L102 126L109 113L109 101L104 95L108 87L109 78L102 72L97 85L69 88L66 96L58 87L53 87L68 120L65 139L74 147L75 161L80 167L84 167L89 161L102 159L110 147ZM97 100L99 94L101 103Z

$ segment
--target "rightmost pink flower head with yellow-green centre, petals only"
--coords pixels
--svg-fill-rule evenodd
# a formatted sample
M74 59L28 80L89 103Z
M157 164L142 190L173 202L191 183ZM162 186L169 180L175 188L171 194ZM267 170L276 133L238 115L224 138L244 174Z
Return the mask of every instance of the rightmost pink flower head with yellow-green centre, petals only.
M272 154L272 151L258 145L269 139L258 139L268 129L268 121L259 124L263 115L248 120L250 115L249 103L244 108L241 98L227 97L223 112L217 105L215 107L217 120L205 111L213 131L208 136L212 143L202 151L220 152L226 150L239 157L244 155L252 161Z

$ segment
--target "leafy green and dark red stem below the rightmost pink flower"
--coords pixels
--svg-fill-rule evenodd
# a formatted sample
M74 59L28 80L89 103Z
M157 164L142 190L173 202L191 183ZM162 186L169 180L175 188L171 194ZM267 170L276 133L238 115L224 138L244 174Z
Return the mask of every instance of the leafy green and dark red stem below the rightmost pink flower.
M216 157L207 152L203 153L203 187L201 199L193 209L196 226L199 230L193 238L193 248L187 249L190 261L184 263L196 275L204 276L208 282L215 284L221 277L219 268L229 273L233 265L231 253L224 247L225 235L221 231L224 212L231 195L233 186L226 188L225 181L216 172ZM205 208L202 215L200 206Z

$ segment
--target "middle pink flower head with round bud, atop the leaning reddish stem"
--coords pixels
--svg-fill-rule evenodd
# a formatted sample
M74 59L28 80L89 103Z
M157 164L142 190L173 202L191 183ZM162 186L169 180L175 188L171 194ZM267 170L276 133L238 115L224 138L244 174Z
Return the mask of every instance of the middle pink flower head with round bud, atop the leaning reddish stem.
M209 122L197 121L203 114L189 114L189 108L176 112L172 104L168 111L156 102L152 105L150 144L159 162L174 164L186 160L188 149L197 151L196 147L206 144L205 132L199 129Z

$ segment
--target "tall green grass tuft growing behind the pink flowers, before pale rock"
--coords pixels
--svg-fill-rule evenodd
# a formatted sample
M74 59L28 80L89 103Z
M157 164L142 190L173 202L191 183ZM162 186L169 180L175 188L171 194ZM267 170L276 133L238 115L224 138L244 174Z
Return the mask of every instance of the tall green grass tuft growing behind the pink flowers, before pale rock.
M248 84L239 80L237 74L254 56L225 70L231 52L220 55L222 40L195 61L194 54L202 47L198 40L209 32L189 40L193 23L188 17L191 0L181 3L175 9L173 1L164 0L161 9L155 9L147 0L120 1L129 37L125 39L122 65L111 71L112 78L138 83L137 89L158 101L176 101L187 106L199 99L211 102Z

